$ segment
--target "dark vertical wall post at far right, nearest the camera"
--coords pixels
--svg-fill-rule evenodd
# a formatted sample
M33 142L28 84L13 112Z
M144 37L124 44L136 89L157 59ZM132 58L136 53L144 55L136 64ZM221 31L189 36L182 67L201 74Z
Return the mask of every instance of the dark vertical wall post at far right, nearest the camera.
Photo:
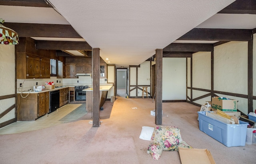
M253 97L253 39L248 41L248 113L253 112L252 97Z

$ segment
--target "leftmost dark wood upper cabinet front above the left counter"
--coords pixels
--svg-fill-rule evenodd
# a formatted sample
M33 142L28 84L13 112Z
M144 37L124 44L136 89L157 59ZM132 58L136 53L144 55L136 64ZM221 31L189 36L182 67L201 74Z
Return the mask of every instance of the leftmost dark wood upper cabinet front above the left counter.
M27 55L27 78L40 78L40 58Z

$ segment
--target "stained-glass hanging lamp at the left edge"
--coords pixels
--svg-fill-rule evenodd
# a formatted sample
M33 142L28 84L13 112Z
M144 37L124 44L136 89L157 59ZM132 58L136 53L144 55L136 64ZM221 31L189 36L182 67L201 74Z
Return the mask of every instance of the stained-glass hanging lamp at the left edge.
M18 45L18 33L3 25L4 20L0 19L0 43L5 45Z

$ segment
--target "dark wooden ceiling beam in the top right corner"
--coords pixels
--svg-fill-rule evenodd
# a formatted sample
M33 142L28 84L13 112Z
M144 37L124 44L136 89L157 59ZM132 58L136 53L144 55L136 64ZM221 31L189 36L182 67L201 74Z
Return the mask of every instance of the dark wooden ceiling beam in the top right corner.
M255 0L236 0L221 10L221 14L256 14Z

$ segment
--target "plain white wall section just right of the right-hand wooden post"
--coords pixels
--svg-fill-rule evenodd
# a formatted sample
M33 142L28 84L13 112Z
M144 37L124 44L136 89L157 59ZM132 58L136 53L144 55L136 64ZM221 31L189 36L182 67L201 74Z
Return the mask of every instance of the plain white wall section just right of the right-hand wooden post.
M186 100L186 58L163 58L162 100Z

